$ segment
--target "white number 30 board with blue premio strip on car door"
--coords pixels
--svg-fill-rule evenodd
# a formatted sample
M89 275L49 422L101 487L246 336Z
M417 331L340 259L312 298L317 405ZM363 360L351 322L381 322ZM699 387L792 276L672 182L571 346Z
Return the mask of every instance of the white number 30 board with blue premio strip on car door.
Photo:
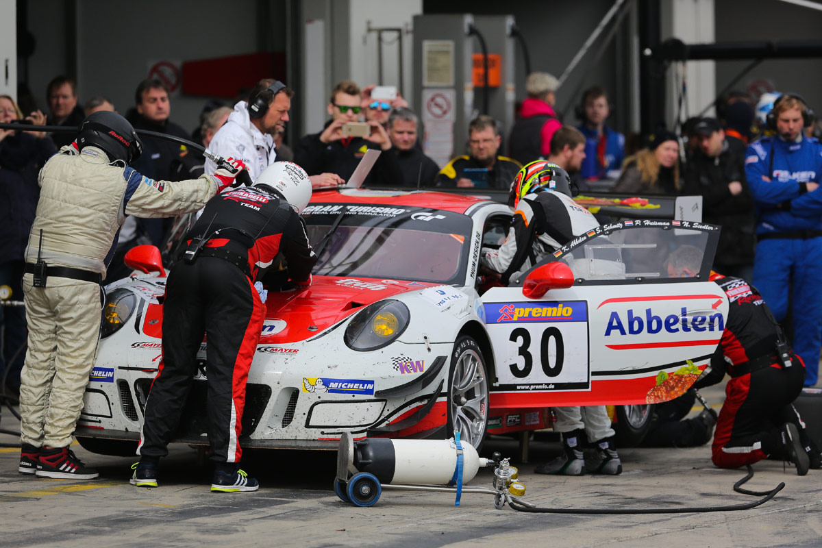
M589 390L588 303L483 305L501 391Z

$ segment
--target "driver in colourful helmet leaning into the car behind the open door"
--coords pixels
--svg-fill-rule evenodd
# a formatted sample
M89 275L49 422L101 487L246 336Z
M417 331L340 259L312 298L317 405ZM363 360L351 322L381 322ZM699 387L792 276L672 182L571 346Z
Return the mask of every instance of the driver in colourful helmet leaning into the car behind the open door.
M573 200L570 177L556 163L529 163L517 173L511 191L515 211L508 237L498 250L484 248L480 254L480 264L501 274L502 283L509 283L548 253L599 226L593 214ZM567 476L622 472L605 406L553 409L554 430L562 433L564 451L535 472ZM594 453L589 458L582 450L584 436L593 444Z

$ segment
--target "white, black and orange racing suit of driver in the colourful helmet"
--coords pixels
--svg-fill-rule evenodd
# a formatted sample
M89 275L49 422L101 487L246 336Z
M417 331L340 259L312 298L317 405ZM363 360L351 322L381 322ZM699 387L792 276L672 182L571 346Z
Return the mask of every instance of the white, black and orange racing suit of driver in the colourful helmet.
M548 253L599 226L593 214L559 192L534 192L517 205L506 241L499 250L484 248L480 264L502 274L502 283L517 278ZM584 430L589 441L614 435L604 405L554 408L554 430Z

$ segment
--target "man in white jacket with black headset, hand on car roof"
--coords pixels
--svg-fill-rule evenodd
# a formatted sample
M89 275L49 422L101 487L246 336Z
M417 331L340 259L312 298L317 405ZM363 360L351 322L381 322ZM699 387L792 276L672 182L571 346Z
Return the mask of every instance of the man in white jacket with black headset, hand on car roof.
M275 163L277 151L274 135L289 121L289 109L294 91L272 78L257 82L248 99L239 101L229 119L215 133L209 150L223 158L241 159L248 168L252 182L268 166ZM205 173L215 173L217 165L205 160ZM313 188L335 187L345 182L335 173L309 177Z

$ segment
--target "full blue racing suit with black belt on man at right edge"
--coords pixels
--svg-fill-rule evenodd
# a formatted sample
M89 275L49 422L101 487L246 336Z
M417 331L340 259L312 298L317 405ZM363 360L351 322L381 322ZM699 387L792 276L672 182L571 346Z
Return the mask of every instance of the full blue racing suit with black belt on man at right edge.
M815 385L822 345L822 145L800 134L787 142L763 137L746 152L745 171L759 219L753 282L778 321L792 302L794 348ZM766 181L767 177L769 181Z

